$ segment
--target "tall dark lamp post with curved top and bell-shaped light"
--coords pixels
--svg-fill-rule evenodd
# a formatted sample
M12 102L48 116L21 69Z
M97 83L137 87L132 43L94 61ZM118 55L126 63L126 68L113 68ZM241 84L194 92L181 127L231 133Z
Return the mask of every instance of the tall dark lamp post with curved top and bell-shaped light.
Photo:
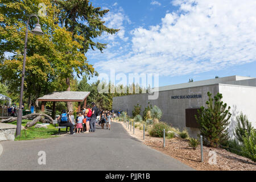
M18 119L17 119L17 127L16 127L16 136L20 135L21 124L22 124L22 98L23 98L23 87L24 87L24 75L25 75L25 66L26 66L26 55L27 55L27 36L28 36L28 23L30 22L30 18L35 16L38 19L38 23L36 23L35 28L31 31L35 35L43 35L43 31L39 24L39 18L36 14L31 14L27 20L27 28L26 28L26 36L25 36L25 47L24 47L24 56L23 56L23 67L22 67L22 82L20 86L20 98L19 98L19 110L18 110Z

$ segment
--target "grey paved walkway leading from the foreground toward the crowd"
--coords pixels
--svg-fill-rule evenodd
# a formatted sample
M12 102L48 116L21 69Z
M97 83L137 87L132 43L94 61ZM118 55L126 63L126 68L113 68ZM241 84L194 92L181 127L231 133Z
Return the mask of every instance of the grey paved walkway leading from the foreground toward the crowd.
M131 137L120 123L112 130L65 137L0 142L0 170L193 170ZM46 152L46 165L38 152Z

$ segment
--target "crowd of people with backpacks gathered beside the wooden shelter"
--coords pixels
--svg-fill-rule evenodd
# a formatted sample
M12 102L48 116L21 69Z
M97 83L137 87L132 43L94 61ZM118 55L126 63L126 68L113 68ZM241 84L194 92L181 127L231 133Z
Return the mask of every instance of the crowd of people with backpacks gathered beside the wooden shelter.
M96 104L92 102L91 106L84 106L82 111L77 112L76 118L73 115L73 111L67 113L66 110L63 110L57 120L59 126L70 127L71 134L75 134L75 132L95 132L97 123L98 126L101 126L101 129L104 129L106 123L106 129L110 130L113 117L115 117L113 111L99 110Z

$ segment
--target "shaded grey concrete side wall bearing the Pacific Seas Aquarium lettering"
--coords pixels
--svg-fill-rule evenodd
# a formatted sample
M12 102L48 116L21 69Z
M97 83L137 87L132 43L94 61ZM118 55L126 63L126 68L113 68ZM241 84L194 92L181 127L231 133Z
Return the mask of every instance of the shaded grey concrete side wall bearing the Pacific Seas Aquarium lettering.
M162 110L163 115L160 121L171 123L172 126L183 130L186 128L185 109L205 106L205 102L208 100L207 92L213 93L213 95L217 94L218 84L161 91L159 92L158 100L148 100L147 94L114 97L113 109L123 111L128 109L128 115L132 115L135 105L141 105L141 110L143 111L148 102L150 102L152 106L159 106ZM171 96L187 96L191 94L201 94L202 98L171 99ZM191 137L196 137L197 133L199 133L198 129L187 128L187 130Z

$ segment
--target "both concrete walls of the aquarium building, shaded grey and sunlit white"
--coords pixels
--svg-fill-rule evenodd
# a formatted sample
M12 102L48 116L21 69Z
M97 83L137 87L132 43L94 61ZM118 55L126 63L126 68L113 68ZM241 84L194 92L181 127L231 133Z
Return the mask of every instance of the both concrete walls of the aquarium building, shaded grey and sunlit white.
M212 93L213 96L218 92L222 93L222 101L231 107L230 113L232 113L232 117L230 118L229 126L230 137L233 138L233 130L237 125L236 117L241 111L243 114L247 115L249 121L256 128L256 88L253 86L215 84L166 90L159 92L158 100L148 100L147 94L114 97L113 109L123 111L128 109L128 115L131 116L135 105L141 105L143 111L148 105L148 102L150 102L152 106L159 106L163 111L163 116L160 121L171 123L172 126L183 130L186 128L185 109L205 106L205 102L208 100L207 92ZM171 96L187 96L191 94L202 94L202 98L171 99ZM196 137L197 133L199 133L198 129L187 128L187 130L191 137Z

